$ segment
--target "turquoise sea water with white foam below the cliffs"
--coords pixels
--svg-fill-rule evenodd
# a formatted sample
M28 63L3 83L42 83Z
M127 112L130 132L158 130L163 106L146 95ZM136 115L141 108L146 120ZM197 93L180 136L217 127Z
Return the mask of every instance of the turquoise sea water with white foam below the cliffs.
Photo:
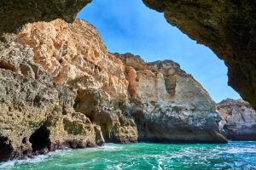
M256 169L256 142L229 144L106 144L84 150L57 150L0 169Z

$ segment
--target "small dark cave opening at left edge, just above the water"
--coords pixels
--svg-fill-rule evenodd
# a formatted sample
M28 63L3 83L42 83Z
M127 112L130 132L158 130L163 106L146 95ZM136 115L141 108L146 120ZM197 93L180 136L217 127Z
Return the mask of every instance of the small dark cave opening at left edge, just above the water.
M0 161L9 159L13 152L13 147L7 137L0 136Z

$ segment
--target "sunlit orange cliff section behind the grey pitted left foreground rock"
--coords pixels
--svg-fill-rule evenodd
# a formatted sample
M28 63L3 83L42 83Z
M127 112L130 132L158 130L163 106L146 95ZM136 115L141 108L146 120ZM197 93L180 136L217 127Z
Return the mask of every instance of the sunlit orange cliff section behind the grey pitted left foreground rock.
M99 124L107 142L137 141L135 123L122 114L128 102L125 66L108 53L95 27L82 20L38 22L17 37L55 82L77 92L75 111Z

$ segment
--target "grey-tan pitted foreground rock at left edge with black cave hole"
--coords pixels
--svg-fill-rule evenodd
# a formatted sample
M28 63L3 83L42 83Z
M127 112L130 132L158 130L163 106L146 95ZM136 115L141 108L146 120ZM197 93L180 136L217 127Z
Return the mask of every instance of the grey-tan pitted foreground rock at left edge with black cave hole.
M0 52L0 161L102 144L100 127L74 111L76 93L53 82L33 56L15 41Z

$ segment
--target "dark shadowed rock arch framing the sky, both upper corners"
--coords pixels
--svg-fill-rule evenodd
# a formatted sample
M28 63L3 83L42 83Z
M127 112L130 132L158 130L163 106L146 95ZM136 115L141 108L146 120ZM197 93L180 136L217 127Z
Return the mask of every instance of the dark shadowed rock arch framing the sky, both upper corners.
M3 0L0 34L27 22L61 18L72 22L92 0ZM143 0L149 8L224 59L229 85L256 108L256 2L252 0Z

